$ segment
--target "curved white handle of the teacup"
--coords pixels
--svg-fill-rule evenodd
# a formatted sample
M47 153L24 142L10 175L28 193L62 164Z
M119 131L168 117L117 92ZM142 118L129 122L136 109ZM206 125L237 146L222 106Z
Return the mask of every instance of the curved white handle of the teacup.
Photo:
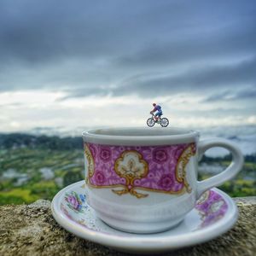
M197 181L197 199L207 191L207 189L211 189L212 187L218 186L230 180L232 177L235 177L237 172L240 172L241 167L243 166L244 160L241 150L237 148L234 143L220 138L201 140L198 145L198 160L201 160L202 155L207 151L207 149L213 147L228 149L232 154L232 162L223 172L213 177L209 177L206 180Z

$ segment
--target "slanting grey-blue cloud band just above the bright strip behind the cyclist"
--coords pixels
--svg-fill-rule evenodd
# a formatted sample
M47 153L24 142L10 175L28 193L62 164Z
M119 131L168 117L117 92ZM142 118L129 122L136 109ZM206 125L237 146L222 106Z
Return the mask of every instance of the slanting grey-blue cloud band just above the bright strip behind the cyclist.
M69 90L65 97L83 97L91 94L97 96L132 95L152 97L155 94L167 96L179 92L206 95L211 92L205 102L221 99L245 99L256 96L256 57L249 61L241 61L233 65L190 67L187 72L169 73L144 73L121 81L113 87L98 87L84 90L77 88ZM245 90L242 90L246 87Z

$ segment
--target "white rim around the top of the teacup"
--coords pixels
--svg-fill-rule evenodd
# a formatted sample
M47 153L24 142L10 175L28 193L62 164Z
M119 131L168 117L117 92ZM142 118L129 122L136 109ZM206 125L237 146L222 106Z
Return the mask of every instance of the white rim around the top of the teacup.
M138 135L135 135L135 132ZM147 135L143 135L143 132ZM119 134L115 135L113 133ZM123 134L122 134L123 133ZM131 135L128 135L130 133ZM154 146L180 143L196 143L200 137L199 131L183 127L109 127L83 131L84 143L123 146Z

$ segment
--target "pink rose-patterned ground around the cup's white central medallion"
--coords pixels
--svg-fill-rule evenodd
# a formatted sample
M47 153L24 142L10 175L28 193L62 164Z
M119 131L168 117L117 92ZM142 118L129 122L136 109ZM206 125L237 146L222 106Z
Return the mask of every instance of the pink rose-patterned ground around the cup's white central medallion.
M90 155L93 158L94 163L93 175L91 177L87 175L86 180L90 185L98 188L116 187L117 185L123 187L126 186L128 188L129 185L132 187L130 189L143 188L172 194L181 193L184 189L187 189L189 192L189 189L186 187L188 184L185 180L177 178L176 172L178 161L183 152L188 150L189 147L192 148L192 154L195 154L195 143L184 143L162 147L108 146L84 143L84 148L90 150ZM119 175L120 172L114 171L116 162L120 162L119 159L124 157L125 152L135 152L140 155L140 161L147 165L145 167L147 169L146 176L136 177L136 175L133 175L132 181L130 176L130 181L127 183L127 178L125 179L124 176ZM191 155L189 155L189 158L190 156ZM88 156L85 155L85 157ZM136 160L129 161L129 164L127 165L130 170L139 170L139 168L143 168L143 166L136 166L137 162L138 161ZM123 166L122 168L128 170L128 167L125 169L125 166Z

